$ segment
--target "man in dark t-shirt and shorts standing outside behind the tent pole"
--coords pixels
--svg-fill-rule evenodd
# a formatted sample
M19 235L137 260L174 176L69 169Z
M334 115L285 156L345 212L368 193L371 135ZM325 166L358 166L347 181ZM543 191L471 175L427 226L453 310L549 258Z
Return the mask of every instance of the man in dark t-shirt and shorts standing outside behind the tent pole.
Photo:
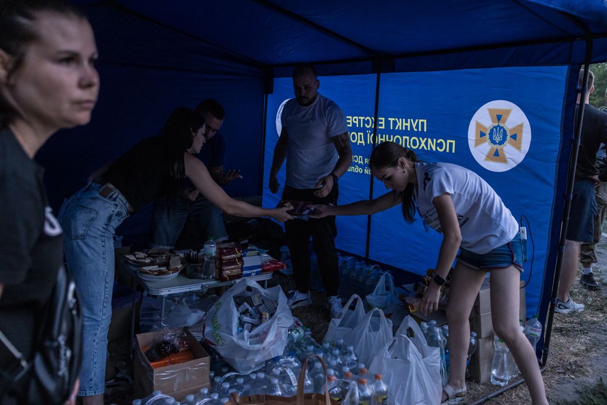
M583 74L582 69L580 70L578 83L580 88L582 87ZM559 313L584 310L583 304L578 304L569 297L569 290L571 290L575 273L577 273L580 243L592 242L594 239L594 217L597 214L594 188L600 182L599 170L595 163L601 144L607 145L607 114L589 104L590 94L593 90L594 74L589 72L580 149L577 165L575 166L573 198L569 211L569 226L565 237L565 253L563 254L561 275L558 282L555 311ZM575 107L576 119L580 102L580 95L578 95L578 106Z

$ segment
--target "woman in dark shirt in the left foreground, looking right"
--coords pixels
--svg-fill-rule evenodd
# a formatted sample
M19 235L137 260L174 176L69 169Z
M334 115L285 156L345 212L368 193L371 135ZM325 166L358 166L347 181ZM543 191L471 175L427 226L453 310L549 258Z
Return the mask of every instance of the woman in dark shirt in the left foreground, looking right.
M63 264L61 227L33 157L58 129L89 122L97 47L89 22L63 1L3 0L0 27L0 330L31 359ZM14 362L0 343L0 372ZM26 384L0 392L0 403L24 403Z

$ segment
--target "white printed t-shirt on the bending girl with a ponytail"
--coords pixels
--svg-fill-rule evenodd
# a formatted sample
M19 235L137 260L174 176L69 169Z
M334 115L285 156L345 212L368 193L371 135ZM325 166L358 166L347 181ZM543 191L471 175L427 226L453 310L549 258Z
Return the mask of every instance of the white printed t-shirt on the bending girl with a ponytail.
M500 196L478 174L451 163L415 163L416 202L430 228L443 233L434 197L449 193L461 230L461 247L483 254L505 245L518 233L517 220Z

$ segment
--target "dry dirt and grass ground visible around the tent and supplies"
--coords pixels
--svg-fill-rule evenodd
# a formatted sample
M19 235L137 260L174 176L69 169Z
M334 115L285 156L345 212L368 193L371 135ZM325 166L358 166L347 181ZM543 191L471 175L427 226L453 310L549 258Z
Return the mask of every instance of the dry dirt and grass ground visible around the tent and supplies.
M602 377L607 381L607 237L603 237L599 242L598 256L599 263L595 265L594 271L603 290L586 291L578 282L578 273L571 296L575 301L585 304L586 310L569 315L555 314L548 364L543 373L551 404L586 404L588 401L580 401L582 394L597 386L598 378ZM285 292L294 288L292 278L280 273L276 273L271 284L280 284ZM312 299L313 305L296 308L293 315L311 328L317 341L322 341L329 320L325 308L326 295L312 291ZM127 338L110 344L110 356L120 369L132 370ZM498 388L491 384L468 383L467 403L472 403ZM106 395L106 404L127 405L131 404L131 401L132 392L129 387L112 390ZM531 400L526 385L521 384L487 403L531 404Z

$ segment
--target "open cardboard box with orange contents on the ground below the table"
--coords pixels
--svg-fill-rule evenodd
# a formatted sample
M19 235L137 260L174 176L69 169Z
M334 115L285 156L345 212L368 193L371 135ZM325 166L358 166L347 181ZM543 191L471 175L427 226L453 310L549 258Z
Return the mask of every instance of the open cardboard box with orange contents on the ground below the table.
M148 396L154 390L160 390L163 393L171 395L173 393L178 395L183 393L183 397L185 398L188 393L209 386L211 360L196 338L188 332L187 328L172 329L169 332L186 333L185 340L188 342L189 350L194 353L195 359L157 369L152 367L144 353L148 350L154 338L166 332L165 330L156 330L135 336L137 342L135 347L135 379L133 384L135 398Z

